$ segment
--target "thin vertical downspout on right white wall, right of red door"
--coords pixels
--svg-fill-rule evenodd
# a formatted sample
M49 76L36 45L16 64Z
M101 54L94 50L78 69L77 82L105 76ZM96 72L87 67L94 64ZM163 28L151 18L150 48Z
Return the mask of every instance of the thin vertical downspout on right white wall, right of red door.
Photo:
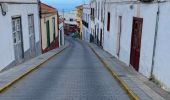
M159 1L158 3L158 11L157 11L157 17L156 17L156 26L155 26L155 35L154 35L154 45L153 45L153 56L152 56L152 67L151 67L151 74L150 74L150 80L154 79L153 71L155 66L155 54L156 54L156 45L157 45L157 36L158 36L158 28L159 28L159 17L160 17L160 5Z

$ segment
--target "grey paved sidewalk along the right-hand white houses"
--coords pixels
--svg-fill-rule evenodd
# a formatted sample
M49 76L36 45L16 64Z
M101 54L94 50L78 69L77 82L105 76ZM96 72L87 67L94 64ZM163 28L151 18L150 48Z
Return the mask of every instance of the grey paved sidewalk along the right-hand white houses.
M139 96L140 100L170 100L169 93L148 81L147 78L121 63L95 44L89 43L89 45L108 64L110 69L115 71L128 87Z

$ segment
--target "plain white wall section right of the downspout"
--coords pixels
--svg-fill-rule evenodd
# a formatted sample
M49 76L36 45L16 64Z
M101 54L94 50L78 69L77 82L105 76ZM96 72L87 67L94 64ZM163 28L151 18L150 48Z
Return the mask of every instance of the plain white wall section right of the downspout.
M170 2L160 4L160 20L157 35L153 75L170 91Z

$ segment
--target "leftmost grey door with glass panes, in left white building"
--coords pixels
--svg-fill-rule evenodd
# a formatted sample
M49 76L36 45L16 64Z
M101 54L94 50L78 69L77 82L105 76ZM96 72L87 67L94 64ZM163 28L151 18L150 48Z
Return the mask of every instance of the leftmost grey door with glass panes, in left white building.
M12 18L12 34L14 43L14 52L16 62L21 62L24 58L23 53L23 38L21 29L21 18Z

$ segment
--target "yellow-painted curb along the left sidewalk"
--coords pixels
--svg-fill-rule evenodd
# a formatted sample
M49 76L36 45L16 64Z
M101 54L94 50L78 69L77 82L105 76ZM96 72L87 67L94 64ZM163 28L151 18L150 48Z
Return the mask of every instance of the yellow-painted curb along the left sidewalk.
M58 54L62 53L66 48L68 48L70 46L70 44L68 44L68 46L64 47L61 51L59 51L58 53L54 54L53 56L49 57L47 60L42 61L40 64L38 64L37 66L33 66L32 68L30 68L29 70L27 70L26 72L24 72L22 75L18 76L16 79L12 80L11 82L5 84L5 86L0 87L0 93L6 91L8 88L10 88L12 85L14 85L15 83L17 83L18 81L20 81L22 78L24 78L25 76L29 75L30 73L32 73L33 71L35 71L36 69L40 68L41 65L43 65L44 63L48 62L49 60L51 60L52 58L54 58L55 56L57 56Z

